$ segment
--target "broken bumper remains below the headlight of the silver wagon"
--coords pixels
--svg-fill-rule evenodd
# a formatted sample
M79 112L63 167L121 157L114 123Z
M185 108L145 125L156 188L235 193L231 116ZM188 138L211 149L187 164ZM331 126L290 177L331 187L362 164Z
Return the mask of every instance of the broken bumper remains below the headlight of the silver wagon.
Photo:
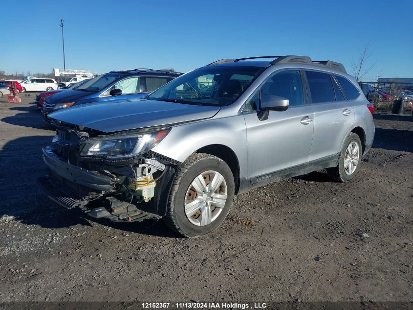
M139 178L132 179L130 185L130 177L119 173L105 170L104 174L71 165L56 155L51 146L42 148L42 156L48 175L38 179L39 185L52 201L67 209L77 207L92 217L122 222L159 219L166 214L166 199L176 172L174 165L161 164L164 171L159 179L148 179L143 184ZM144 164L129 169L150 171L155 168L153 165L159 166L152 158L142 161ZM113 170L117 171L117 167ZM134 191L128 191L126 183Z

